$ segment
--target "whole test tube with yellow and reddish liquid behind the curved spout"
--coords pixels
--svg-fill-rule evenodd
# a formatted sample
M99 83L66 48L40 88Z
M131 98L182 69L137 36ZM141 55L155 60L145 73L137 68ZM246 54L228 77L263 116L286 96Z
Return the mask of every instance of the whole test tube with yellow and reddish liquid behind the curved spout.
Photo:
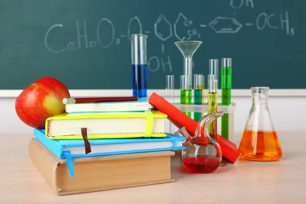
M208 114L218 111L218 80L214 74L208 75ZM217 119L213 120L209 125L210 136L217 141L218 127Z

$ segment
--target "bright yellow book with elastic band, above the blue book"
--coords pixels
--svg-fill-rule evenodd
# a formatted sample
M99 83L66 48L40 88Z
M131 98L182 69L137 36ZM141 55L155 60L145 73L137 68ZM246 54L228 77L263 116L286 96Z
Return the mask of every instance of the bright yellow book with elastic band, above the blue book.
M156 110L143 112L64 113L46 119L50 139L166 137L167 115Z

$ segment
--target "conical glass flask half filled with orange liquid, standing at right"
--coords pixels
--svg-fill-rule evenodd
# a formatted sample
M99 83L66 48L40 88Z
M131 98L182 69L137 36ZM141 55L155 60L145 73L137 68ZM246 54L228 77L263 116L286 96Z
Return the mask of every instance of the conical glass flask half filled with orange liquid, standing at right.
M239 145L241 159L275 161L283 156L268 106L269 87L251 87L252 107Z

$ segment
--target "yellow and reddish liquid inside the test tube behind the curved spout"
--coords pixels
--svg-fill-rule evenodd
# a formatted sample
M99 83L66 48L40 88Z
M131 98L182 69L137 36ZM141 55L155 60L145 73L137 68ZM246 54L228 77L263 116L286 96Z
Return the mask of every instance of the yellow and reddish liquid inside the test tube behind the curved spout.
M208 113L217 112L218 107L218 97L216 92L208 93ZM218 128L217 119L213 120L209 125L209 134L211 137L217 141Z

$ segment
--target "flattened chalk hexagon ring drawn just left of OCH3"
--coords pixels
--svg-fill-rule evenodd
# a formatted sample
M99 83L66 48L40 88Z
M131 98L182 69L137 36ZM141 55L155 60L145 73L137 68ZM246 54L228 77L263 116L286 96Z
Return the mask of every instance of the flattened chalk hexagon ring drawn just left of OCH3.
M216 33L237 33L242 24L233 17L216 17L209 23Z

